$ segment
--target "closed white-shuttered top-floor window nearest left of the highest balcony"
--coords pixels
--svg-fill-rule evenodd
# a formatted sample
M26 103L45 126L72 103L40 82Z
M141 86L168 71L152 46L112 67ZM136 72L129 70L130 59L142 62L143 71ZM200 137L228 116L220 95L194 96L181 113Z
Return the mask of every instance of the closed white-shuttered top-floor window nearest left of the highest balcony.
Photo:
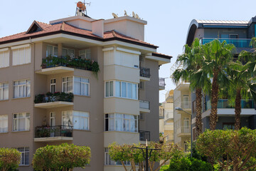
M13 66L31 63L31 47L30 45L13 47Z

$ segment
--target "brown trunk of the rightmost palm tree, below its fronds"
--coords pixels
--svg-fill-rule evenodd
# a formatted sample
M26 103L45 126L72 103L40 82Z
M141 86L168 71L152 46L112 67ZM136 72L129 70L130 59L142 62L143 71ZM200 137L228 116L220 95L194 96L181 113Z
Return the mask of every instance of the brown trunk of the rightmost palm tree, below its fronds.
M240 130L241 89L238 88L235 96L235 130Z

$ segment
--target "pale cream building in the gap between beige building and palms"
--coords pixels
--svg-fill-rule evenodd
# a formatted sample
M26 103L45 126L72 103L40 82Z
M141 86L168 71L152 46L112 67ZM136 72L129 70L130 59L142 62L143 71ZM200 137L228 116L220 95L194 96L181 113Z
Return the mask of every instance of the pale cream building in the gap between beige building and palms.
M159 133L164 143L174 142L174 90L167 91L165 101L159 104Z

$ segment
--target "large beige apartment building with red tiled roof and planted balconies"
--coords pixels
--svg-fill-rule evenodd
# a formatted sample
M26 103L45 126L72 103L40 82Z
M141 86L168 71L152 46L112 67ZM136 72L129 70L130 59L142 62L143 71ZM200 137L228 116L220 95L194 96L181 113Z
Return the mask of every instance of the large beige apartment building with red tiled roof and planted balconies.
M79 11L0 38L0 147L21 152L18 170L63 142L91 148L85 170L123 170L110 143L159 141L159 66L171 56L144 41L146 24Z

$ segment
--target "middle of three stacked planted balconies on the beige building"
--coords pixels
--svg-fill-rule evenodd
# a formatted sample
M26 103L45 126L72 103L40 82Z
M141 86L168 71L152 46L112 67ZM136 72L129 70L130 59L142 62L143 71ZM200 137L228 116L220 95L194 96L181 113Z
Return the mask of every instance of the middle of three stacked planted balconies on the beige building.
M74 95L73 93L46 93L35 96L35 108L60 108L65 106L72 106Z

